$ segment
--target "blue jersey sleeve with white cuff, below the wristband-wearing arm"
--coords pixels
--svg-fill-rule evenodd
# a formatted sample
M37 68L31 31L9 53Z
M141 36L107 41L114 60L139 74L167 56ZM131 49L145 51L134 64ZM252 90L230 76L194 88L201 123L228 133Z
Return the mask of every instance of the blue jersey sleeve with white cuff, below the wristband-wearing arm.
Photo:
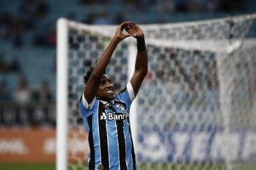
M120 99L120 101L124 101L125 105L127 106L127 109L130 109L130 106L132 104L132 101L134 100L134 90L132 88L131 82L129 82L122 91L117 95L117 99Z

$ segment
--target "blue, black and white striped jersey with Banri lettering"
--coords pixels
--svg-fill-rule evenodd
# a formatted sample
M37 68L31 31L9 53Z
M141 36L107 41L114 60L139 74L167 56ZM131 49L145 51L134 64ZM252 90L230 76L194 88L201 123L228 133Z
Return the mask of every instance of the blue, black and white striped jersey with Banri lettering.
M79 110L89 132L90 170L138 169L129 122L129 110L134 98L130 82L111 102L95 98L88 105L83 95Z

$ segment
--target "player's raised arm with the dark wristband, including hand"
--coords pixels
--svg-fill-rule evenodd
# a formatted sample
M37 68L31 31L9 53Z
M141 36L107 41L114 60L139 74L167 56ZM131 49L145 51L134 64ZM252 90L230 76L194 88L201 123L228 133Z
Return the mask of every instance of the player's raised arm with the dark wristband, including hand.
M135 96L137 95L144 77L148 73L148 54L144 40L144 33L136 24L132 23L125 29L137 39L137 57L135 62L135 71L131 79L132 88Z

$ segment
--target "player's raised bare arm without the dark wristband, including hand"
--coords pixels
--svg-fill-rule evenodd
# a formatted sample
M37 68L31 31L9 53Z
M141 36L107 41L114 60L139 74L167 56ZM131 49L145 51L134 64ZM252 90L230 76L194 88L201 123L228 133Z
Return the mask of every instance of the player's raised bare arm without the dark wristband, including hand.
M117 31L115 32L115 35L112 38L110 44L108 45L106 50L103 52L103 54L100 56L100 59L98 59L98 62L96 63L93 69L93 72L91 73L91 76L89 77L88 82L86 83L86 86L84 88L84 97L89 105L96 96L103 72L105 71L108 65L108 62L111 59L113 51L115 50L115 48L117 47L118 43L121 40L129 36L132 36L131 34L122 33L123 30L130 24L131 22L127 21L122 23L117 28Z

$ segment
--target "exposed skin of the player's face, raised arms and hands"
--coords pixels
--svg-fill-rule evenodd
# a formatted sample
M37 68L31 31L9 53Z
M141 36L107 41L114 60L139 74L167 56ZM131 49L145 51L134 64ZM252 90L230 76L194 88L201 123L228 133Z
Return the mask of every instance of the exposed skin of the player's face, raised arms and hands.
M128 33L125 34L123 31ZM90 104L95 96L103 101L112 101L115 98L113 93L113 85L107 75L103 74L112 54L120 41L127 37L144 38L144 33L136 24L131 21L122 23L115 32L110 44L100 56L96 63L93 72L91 73L88 82L84 88L84 97L88 104ZM136 95L139 91L141 83L148 72L148 55L146 50L138 50L135 64L135 71L131 78L131 85Z

